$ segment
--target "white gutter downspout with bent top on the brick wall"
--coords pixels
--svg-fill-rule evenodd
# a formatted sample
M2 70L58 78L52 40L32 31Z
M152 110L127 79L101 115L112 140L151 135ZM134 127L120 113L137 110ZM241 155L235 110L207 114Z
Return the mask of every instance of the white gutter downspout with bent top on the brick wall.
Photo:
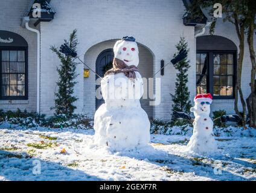
M36 112L40 114L40 31L28 25L30 17L22 18L22 27L37 34Z

